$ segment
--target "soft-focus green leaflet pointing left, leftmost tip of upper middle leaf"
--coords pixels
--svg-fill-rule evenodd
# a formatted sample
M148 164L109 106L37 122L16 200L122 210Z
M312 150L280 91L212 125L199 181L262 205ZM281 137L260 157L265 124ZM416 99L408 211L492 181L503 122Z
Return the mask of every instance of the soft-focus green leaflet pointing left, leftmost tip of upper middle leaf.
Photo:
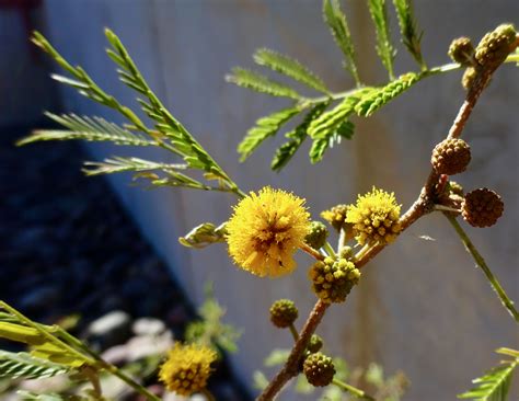
M273 96L290 98L299 100L301 95L290 87L273 81L267 77L241 67L234 67L232 73L226 77L228 82L239 87L249 88L256 92L263 92Z

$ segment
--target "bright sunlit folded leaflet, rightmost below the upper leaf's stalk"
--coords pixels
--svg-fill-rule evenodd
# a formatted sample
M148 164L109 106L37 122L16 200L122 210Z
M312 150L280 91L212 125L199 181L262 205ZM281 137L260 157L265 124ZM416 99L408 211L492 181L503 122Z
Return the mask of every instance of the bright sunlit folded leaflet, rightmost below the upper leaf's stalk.
M405 92L413 84L418 82L423 76L415 72L407 72L400 76L399 79L388 83L379 89L371 89L355 105L355 113L361 117L369 117L380 107L389 103L399 94Z

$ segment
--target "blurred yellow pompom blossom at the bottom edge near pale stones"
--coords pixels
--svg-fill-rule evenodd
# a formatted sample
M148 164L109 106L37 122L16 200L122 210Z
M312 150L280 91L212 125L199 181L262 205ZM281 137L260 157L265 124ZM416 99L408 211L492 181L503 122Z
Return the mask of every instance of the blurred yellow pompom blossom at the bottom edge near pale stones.
M160 368L160 380L168 391L191 396L207 386L216 358L217 353L207 346L175 343Z

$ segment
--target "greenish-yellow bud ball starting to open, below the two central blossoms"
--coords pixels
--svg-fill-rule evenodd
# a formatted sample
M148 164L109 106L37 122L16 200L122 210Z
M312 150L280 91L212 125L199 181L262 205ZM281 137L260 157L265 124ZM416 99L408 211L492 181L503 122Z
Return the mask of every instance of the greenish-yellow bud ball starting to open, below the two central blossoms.
M360 271L345 259L326 257L316 262L309 272L313 291L324 302L344 302L358 284Z

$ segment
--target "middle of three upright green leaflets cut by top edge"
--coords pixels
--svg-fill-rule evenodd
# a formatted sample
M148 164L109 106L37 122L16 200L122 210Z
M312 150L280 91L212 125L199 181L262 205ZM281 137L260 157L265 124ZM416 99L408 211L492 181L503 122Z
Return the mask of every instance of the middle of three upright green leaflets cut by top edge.
M368 7L377 33L377 53L392 80L394 79L393 60L396 51L391 44L385 0L369 0Z

